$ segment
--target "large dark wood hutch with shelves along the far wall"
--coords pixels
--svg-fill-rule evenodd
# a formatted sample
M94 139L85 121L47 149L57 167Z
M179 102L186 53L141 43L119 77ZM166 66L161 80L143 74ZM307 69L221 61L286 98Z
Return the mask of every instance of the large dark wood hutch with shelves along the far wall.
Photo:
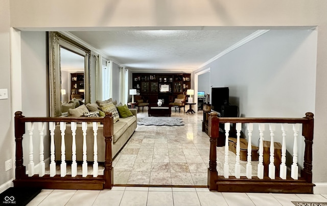
M191 89L191 73L133 73L132 78L133 89L150 104L158 99L168 104Z

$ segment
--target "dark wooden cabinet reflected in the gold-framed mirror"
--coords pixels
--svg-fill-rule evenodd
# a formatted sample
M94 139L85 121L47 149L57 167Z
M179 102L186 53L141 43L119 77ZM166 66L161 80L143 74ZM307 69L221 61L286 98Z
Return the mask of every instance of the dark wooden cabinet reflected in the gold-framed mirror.
M71 99L84 99L84 73L71 73Z

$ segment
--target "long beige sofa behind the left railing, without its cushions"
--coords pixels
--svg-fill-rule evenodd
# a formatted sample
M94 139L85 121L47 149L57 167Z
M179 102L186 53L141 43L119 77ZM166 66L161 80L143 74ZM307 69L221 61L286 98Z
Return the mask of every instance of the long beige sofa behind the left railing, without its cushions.
M136 109L130 109L133 116L120 118L119 121L113 124L112 138L112 158L121 150L125 143L129 140L136 129ZM103 137L103 125L98 125L97 145L98 145L98 162L104 162L105 159L105 142ZM72 160L72 130L70 124L66 124L65 131L65 159ZM86 155L87 161L94 161L94 132L91 124L87 125L86 132ZM61 160L61 132L60 126L56 126L55 130L55 157L56 161ZM76 160L83 161L83 132L82 125L77 125L76 130Z

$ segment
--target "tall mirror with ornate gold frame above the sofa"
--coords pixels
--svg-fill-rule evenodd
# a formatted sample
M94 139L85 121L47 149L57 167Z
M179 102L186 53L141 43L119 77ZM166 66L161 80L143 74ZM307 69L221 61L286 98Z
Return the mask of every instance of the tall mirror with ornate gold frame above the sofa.
M79 89L80 96L83 98L85 104L90 101L90 62L91 50L77 43L76 41L66 37L60 32L49 32L49 85L50 85L50 116L59 117L62 116L62 102L63 100L69 101L76 94L76 90L72 89L75 85L72 82L67 83L69 86L62 85L62 65L61 60L66 57L62 57L64 54L72 53L72 57L78 56L80 61L79 65L84 66L82 69L74 70L72 72L83 73L83 80L79 82L79 86L83 85L83 89ZM70 56L70 55L69 55ZM75 59L75 58L73 58ZM72 59L72 61L73 61ZM83 63L84 61L84 63ZM65 70L66 71L66 70ZM73 77L68 76L67 79L75 80ZM81 79L79 79L81 80ZM63 87L65 89L63 89ZM67 88L67 89L66 89ZM65 94L64 94L64 93ZM66 97L66 98L64 98Z

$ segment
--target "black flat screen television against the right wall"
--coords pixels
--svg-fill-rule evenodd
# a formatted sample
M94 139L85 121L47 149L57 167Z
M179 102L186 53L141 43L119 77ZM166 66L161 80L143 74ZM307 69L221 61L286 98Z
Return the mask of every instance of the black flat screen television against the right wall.
M229 88L211 88L211 109L221 113L221 106L229 105Z

